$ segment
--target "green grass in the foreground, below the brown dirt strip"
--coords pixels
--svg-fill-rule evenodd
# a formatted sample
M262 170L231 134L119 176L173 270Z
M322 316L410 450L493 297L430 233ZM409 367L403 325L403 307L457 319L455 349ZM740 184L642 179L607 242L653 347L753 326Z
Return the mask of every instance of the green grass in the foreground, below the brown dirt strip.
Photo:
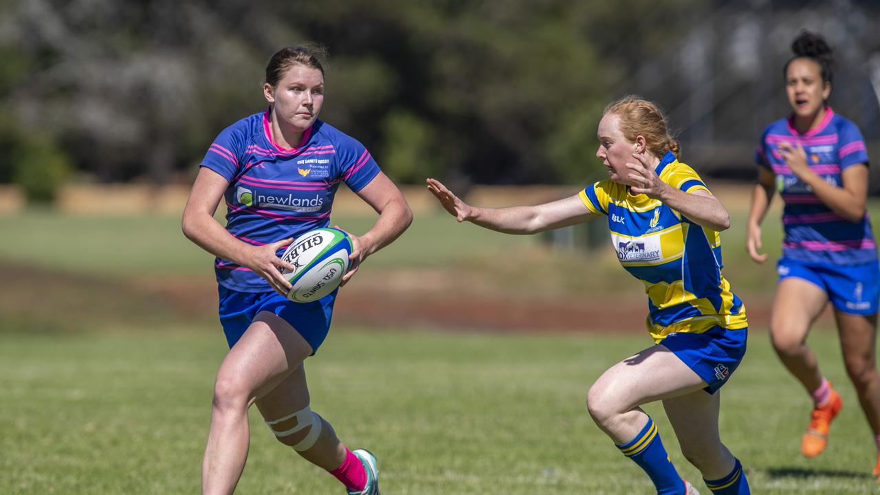
M182 330L0 333L0 493L197 492L225 348L219 330ZM349 446L378 455L384 492L652 492L583 405L590 383L646 336L354 330L334 330L307 361L312 407ZM875 447L836 337L818 330L810 342L846 404L825 454L798 454L809 400L761 334L723 389L722 438L755 493L873 493ZM647 410L680 473L701 486L662 408ZM341 492L270 438L255 410L251 426L239 493Z

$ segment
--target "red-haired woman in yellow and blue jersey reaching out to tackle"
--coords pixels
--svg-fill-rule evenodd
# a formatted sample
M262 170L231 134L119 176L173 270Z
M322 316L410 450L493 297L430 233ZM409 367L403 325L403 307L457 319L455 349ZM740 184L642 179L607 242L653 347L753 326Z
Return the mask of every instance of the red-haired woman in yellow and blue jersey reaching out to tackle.
M660 494L698 493L678 476L654 421L639 406L663 401L682 453L716 494L749 493L745 472L718 432L719 388L745 353L743 303L722 277L719 232L728 213L693 168L663 113L627 96L605 107L596 152L608 169L574 196L535 206L480 208L443 184L428 188L459 222L502 233L537 233L605 215L620 263L648 293L655 345L609 368L590 387L587 409Z

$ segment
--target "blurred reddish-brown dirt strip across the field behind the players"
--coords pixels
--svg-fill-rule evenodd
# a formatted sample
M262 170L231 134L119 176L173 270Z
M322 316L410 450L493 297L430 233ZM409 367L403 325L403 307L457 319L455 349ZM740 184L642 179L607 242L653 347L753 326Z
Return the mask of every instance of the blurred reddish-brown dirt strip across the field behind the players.
M169 317L216 322L216 283L206 277L117 279L59 274L0 263L0 314L81 327L135 321L160 327ZM645 296L633 291L529 298L489 284L472 270L358 274L340 292L334 323L438 330L645 332ZM766 330L771 299L744 299L752 329ZM50 306L46 301L53 301ZM821 321L832 325L830 311Z

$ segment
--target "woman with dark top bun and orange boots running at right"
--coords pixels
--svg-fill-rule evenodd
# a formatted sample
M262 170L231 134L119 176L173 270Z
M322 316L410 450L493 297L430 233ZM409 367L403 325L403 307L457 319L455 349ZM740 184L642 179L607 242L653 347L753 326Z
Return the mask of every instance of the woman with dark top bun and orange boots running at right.
M760 223L774 192L785 208L785 240L777 262L770 335L782 364L810 394L813 410L801 452L815 457L828 445L832 419L843 402L819 371L806 344L810 326L831 302L847 375L868 418L880 476L880 373L876 368L877 299L880 268L865 209L868 152L853 122L835 114L831 48L804 31L792 43L795 55L783 68L792 114L767 126L756 152L758 184L752 193L746 249L765 262Z

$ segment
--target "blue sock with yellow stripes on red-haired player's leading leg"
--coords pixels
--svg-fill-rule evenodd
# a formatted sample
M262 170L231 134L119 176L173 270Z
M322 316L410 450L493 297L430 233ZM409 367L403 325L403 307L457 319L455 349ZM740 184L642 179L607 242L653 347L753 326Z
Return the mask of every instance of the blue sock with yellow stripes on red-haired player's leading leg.
M617 446L620 452L632 459L648 473L657 489L657 495L678 495L684 493L685 482L669 460L654 420L648 417L648 424L635 435L632 441Z

